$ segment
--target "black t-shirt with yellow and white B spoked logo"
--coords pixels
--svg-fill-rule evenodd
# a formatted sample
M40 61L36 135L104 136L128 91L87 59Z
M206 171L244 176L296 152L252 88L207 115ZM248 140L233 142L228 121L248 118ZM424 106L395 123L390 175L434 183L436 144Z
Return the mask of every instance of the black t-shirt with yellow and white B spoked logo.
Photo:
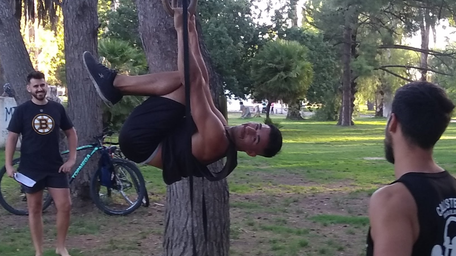
M36 105L31 100L19 105L8 131L21 134L21 161L18 171L34 178L37 173L58 173L63 164L59 149L59 129L73 127L65 108L54 101Z

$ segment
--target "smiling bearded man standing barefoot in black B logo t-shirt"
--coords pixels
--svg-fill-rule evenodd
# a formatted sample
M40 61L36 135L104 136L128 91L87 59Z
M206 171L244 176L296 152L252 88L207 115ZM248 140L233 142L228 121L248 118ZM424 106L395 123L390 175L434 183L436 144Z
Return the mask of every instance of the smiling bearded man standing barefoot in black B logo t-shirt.
M65 248L71 207L67 173L75 163L78 138L64 107L46 99L48 84L43 73L33 71L27 76L27 91L31 100L15 109L8 126L5 167L8 176L15 177L13 155L19 135L22 135L18 172L36 182L33 187L22 185L27 194L35 256L43 255L42 203L46 187L57 208L56 253L69 256ZM60 129L68 138L69 158L65 163L59 150Z

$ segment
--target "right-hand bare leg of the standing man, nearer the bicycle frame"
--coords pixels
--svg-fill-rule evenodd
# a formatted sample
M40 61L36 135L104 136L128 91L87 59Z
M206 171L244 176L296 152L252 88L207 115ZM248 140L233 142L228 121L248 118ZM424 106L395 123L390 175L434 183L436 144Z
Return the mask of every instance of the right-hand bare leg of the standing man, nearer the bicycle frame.
M61 256L70 256L65 246L71 212L70 192L66 188L48 189L57 208L57 245L55 253Z

